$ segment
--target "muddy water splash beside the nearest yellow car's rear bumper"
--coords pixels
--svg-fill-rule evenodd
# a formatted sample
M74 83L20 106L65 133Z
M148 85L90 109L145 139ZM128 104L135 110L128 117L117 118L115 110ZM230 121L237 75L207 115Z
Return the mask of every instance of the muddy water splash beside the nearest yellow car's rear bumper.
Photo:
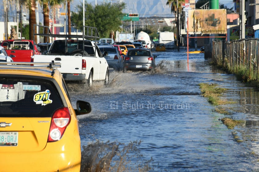
M153 159L143 161L139 151L141 141L128 145L109 141L89 143L82 146L81 172L148 172ZM134 160L132 162L131 160Z

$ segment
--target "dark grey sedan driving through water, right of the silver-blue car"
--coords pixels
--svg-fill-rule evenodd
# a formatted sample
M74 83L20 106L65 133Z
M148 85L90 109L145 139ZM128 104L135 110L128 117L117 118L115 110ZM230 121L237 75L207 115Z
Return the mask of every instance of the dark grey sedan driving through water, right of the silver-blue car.
M123 72L128 69L154 70L156 67L155 58L150 49L133 48L128 51L123 61Z

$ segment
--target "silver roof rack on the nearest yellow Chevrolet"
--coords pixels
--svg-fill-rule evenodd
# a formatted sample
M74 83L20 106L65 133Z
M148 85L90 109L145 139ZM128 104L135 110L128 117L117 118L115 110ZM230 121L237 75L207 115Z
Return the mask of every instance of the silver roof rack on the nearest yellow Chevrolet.
M7 65L8 64L8 65ZM12 64L12 65L9 65ZM34 64L42 66L34 66ZM0 67L12 67L12 68L59 68L61 63L54 62L0 62Z

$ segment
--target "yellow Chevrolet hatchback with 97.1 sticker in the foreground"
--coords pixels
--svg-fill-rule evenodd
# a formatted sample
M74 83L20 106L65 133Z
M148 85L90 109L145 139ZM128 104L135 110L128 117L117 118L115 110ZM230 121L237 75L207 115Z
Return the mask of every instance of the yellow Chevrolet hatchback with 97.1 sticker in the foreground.
M89 113L90 103L72 107L60 65L23 64L0 63L1 171L79 172L77 115Z

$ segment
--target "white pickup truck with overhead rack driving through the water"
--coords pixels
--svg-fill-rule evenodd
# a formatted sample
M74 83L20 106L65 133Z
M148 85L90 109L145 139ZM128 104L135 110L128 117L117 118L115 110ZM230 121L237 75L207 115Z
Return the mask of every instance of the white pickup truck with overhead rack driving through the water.
M34 34L40 36L62 37L63 39L54 40L46 55L33 55L31 62L54 61L55 63L61 63L61 68L58 70L67 81L78 81L83 83L87 81L88 85L91 86L93 81L104 80L107 84L109 81L108 63L94 41L86 40L86 38L99 38L98 31L93 27L84 27L88 28L88 34L83 36ZM89 32L89 30L91 31ZM89 35L89 33L91 35ZM93 35L93 33L97 35Z

